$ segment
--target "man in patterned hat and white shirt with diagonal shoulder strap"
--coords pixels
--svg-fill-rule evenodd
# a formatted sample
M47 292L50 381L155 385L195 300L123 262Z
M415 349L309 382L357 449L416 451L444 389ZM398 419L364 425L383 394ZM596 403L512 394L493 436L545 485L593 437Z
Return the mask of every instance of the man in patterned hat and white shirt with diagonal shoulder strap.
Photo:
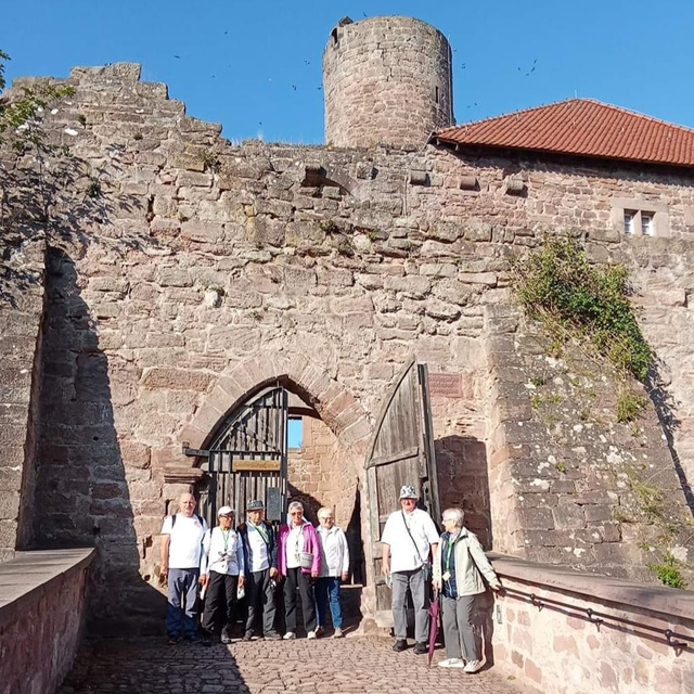
M382 569L393 583L393 621L396 652L408 647L408 590L414 605L414 653L427 653L429 633L429 590L432 557L438 547L439 536L426 511L416 507L414 487L400 489L400 511L388 516L381 542L383 543Z

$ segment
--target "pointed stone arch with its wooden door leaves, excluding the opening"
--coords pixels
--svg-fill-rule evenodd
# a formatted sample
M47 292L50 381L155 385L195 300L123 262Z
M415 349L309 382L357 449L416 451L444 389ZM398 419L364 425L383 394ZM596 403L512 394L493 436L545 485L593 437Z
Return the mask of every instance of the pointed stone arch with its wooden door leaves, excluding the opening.
M413 485L435 518L439 511L426 364L408 362L374 427L348 390L303 357L256 357L222 374L181 434L190 441L188 453L208 473L201 498L208 520L224 503L243 517L246 502L255 498L266 502L270 517L282 517L287 496L296 491L288 484L286 427L297 410L322 421L339 445L340 493L361 499L361 512L340 520L356 522L359 554L363 543L363 579L370 588L362 613L388 627L390 590L381 573L380 538L388 514L399 507L400 486Z

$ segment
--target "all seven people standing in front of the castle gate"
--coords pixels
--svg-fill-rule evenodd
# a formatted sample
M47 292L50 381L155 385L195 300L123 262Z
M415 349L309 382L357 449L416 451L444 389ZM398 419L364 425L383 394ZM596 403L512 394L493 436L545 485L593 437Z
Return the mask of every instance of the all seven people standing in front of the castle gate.
M501 583L477 537L464 527L461 509L442 513L439 535L429 514L417 507L414 487L400 490L400 510L385 524L382 568L393 589L395 644L408 648L407 596L414 607L414 647L428 652L430 586L441 601L446 659L444 668L477 672L479 647L473 632L473 614L486 586L498 591ZM287 522L275 534L265 518L262 501L248 502L247 518L234 527L230 506L218 511L211 529L195 514L195 498L182 494L179 513L168 516L162 528L162 575L168 578L166 629L170 643L193 640L197 632L197 586L203 586L204 641L231 641L239 597L245 593L247 617L243 640L249 641L261 625L265 639L296 639L297 590L308 639L320 637L326 626L327 607L334 637L343 637L339 587L347 580L349 549L333 512L318 512L314 528L298 501L290 503ZM277 591L284 592L285 632L277 630Z

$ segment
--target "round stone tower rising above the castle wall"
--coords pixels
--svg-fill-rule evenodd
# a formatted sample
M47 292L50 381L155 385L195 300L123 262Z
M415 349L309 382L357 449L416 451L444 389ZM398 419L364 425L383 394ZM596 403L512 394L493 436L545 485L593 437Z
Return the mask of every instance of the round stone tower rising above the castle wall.
M323 52L325 143L422 145L453 124L451 48L403 16L342 20Z

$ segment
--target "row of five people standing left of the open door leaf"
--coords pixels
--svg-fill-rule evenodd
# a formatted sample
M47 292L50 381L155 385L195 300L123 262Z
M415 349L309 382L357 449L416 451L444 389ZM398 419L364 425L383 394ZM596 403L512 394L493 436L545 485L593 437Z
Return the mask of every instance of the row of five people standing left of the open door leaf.
M314 528L301 503L293 501L287 523L277 534L265 518L262 501L248 502L246 516L236 526L233 509L224 505L217 512L218 525L208 528L195 513L193 494L184 493L179 512L165 519L160 574L168 580L169 643L196 638L198 586L204 593L205 644L216 638L230 643L243 596L247 607L244 641L250 641L257 628L265 639L296 639L297 589L307 638L324 633L329 605L333 637L342 638L339 587L348 578L349 548L332 510L319 510ZM284 592L284 635L277 629L278 590Z

